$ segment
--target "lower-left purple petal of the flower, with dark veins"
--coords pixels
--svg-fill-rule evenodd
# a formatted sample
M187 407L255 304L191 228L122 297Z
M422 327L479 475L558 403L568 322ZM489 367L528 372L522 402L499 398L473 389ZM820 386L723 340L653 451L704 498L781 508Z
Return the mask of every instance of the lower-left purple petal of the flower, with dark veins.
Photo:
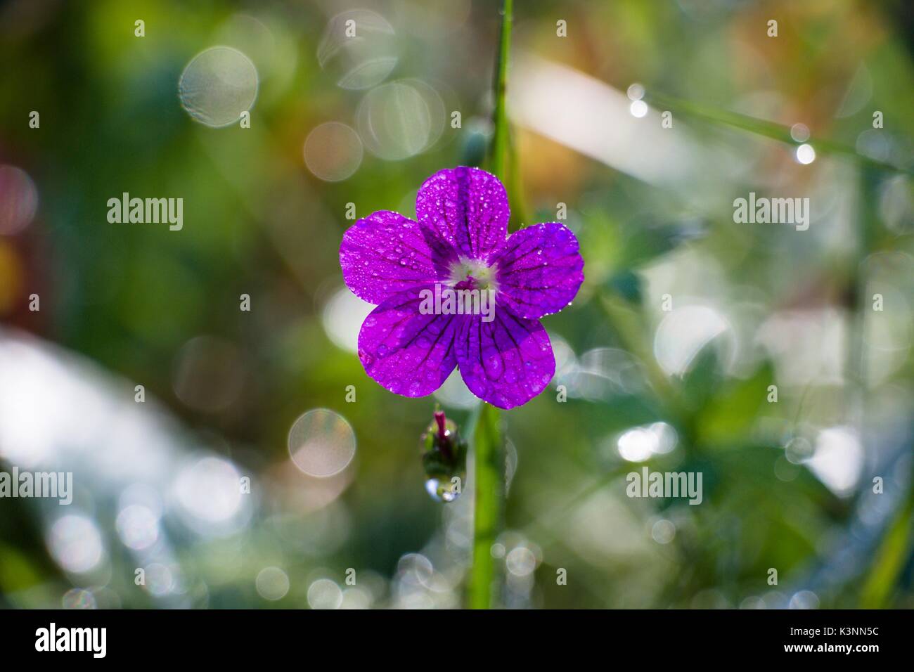
M404 397L424 397L441 387L457 364L454 338L465 315L422 315L421 291L413 287L375 308L358 334L365 372Z

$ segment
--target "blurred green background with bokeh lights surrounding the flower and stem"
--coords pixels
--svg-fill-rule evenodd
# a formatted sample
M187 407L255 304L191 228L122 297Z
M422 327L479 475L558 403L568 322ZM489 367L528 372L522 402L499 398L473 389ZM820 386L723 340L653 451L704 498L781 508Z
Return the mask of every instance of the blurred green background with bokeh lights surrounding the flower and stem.
M338 246L482 160L497 5L0 5L0 469L75 488L0 499L0 604L462 605L472 494L426 494L420 434L473 397L367 378ZM503 414L500 603L914 606L912 54L901 0L515 7L512 229L563 204L586 281ZM643 465L702 503L626 496Z

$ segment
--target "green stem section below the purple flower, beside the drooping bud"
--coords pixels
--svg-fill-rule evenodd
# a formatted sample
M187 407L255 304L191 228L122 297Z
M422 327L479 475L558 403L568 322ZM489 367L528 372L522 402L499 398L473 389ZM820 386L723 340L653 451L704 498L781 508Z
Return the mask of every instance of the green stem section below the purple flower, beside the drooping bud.
M505 500L505 453L498 409L483 403L473 431L473 573L470 607L494 606L492 545L502 526Z

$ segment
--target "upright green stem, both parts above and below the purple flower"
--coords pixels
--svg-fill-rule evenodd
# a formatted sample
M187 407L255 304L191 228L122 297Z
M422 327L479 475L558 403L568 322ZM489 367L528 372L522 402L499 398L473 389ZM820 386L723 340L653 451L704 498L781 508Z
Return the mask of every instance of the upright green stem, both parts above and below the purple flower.
M508 119L505 113L505 89L508 54L511 50L512 0L502 2L501 37L495 60L493 114L494 133L489 154L489 170L506 186L508 160ZM505 451L501 417L498 409L483 403L473 428L473 571L470 576L470 607L490 609L494 606L495 565L492 545L498 537L505 508Z

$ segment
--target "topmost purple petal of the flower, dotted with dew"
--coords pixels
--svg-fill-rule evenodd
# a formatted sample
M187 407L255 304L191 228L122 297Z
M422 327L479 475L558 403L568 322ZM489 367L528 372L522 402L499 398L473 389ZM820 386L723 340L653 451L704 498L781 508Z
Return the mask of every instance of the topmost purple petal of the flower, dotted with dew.
M479 168L449 168L430 176L416 196L420 224L438 233L467 259L487 261L505 242L508 197L494 175Z

